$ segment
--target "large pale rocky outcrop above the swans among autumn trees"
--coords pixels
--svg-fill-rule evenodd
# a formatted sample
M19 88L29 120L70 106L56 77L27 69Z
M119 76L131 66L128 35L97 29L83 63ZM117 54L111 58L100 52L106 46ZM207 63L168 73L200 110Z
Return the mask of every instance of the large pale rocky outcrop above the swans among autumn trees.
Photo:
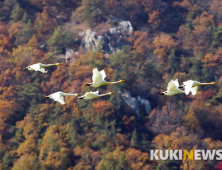
M115 22L118 25L112 27L110 22ZM86 50L96 50L100 48L103 53L115 53L124 45L123 38L132 36L133 34L133 27L130 21L123 21L109 16L108 21L105 24L110 28L107 30L101 28L97 32L87 29L79 33L79 36L82 37L81 45ZM102 34L99 35L98 32L102 32Z

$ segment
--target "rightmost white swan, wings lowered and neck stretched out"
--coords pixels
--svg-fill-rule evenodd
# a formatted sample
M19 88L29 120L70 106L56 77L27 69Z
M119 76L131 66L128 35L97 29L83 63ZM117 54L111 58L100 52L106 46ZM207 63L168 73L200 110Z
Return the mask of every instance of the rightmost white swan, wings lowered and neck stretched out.
M194 80L188 80L183 82L183 85L179 86L179 88L185 88L185 94L188 95L191 91L192 95L195 95L198 91L198 86L201 85L215 85L217 84L216 82L211 82L211 83L201 83L198 81Z

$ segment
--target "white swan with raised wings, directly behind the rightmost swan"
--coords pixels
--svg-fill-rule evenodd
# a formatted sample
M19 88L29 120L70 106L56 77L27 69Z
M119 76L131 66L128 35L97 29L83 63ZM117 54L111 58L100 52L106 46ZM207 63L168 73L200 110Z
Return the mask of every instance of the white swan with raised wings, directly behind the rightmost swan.
M171 80L168 83L167 86L167 91L160 93L160 95L168 95L168 96L172 96L178 93L185 93L185 91L182 91L179 89L179 83L178 83L178 79L176 80Z

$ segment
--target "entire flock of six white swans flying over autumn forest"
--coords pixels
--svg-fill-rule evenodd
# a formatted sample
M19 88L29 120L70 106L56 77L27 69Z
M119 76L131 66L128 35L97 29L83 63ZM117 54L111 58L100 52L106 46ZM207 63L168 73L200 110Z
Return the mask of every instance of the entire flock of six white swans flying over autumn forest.
M60 66L60 65L62 65L62 64L61 63L55 63L55 64L37 63L37 64L30 65L26 68L23 68L23 70L40 71L42 73L47 73L47 71L45 71L45 67ZM88 83L85 85L92 86L92 87L100 87L100 86L104 86L104 85L111 85L111 84L125 82L125 80L119 80L116 82L107 82L105 80L105 78L106 78L106 73L104 70L99 71L97 68L94 68L93 69L93 76L92 76L92 80L93 80L92 83ZM215 85L215 84L217 84L217 83L216 82L200 83L198 81L188 80L188 81L183 82L183 85L179 86L178 79L176 79L176 80L172 79L168 83L167 91L160 93L160 95L172 96L172 95L175 95L178 93L185 93L186 95L188 95L190 92L192 93L192 95L195 95L198 91L198 86ZM185 91L181 90L182 88L184 88ZM70 93L64 93L62 91L58 91L58 92L53 93L49 96L46 96L46 98L51 98L55 101L58 101L59 103L61 103L63 105L63 104L65 104L64 96L79 96L78 97L79 99L91 100L94 98L108 96L108 95L112 95L112 94L115 94L115 93L109 92L109 93L105 93L105 94L99 94L99 91L95 91L95 92L90 91L90 92L86 92L83 96L79 96L78 93L70 94Z

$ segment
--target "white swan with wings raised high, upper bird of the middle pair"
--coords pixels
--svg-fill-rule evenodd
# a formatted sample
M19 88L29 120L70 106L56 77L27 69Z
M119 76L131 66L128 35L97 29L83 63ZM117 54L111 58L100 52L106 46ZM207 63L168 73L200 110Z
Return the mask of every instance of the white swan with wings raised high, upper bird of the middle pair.
M92 87L100 87L103 85L110 85L110 84L117 84L117 83L123 83L125 80L119 80L116 82L107 82L104 80L106 78L106 73L104 70L100 71L97 68L93 69L93 76L92 76L92 83L85 84L86 86L92 86Z

